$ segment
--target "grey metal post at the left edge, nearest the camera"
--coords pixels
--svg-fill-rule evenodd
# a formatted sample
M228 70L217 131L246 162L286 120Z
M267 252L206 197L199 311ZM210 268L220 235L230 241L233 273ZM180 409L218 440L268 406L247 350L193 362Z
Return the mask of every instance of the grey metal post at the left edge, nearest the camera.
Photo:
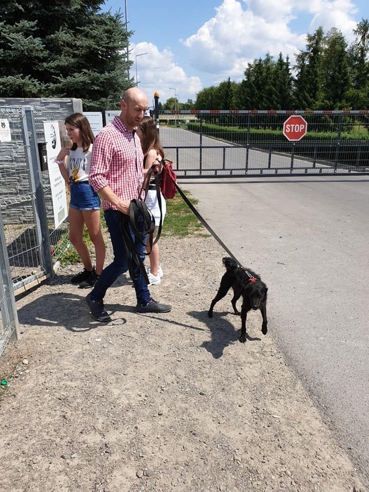
M8 257L8 250L6 245L6 239L4 234L4 224L3 224L3 216L0 210L0 270L1 270L1 278L0 278L0 294L3 290L5 305L1 302L2 297L0 295L0 309L1 316L3 319L3 326L12 327L13 331L9 338L14 336L16 339L19 339L19 321L18 314L15 305L14 291L13 291L13 280L11 278L10 273L10 264ZM5 322L4 322L5 321ZM0 340L1 342L1 340ZM0 355L3 353L4 347L3 344L0 343Z

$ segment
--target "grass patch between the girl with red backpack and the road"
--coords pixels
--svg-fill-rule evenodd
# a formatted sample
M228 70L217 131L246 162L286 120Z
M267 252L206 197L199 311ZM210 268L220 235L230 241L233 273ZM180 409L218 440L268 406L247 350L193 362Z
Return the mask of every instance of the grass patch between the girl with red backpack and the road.
M182 190L193 206L196 206L198 200L191 197L191 193L187 190ZM171 200L167 200L167 215L163 223L161 231L162 236L208 236L204 232L204 228L187 203L179 193ZM160 239L159 239L160 242Z

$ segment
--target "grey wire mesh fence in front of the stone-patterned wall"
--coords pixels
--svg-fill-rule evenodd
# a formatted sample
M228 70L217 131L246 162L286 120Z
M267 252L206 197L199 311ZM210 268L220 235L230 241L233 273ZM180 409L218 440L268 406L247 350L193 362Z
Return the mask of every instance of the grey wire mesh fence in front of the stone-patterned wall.
M61 121L64 125L68 114L30 107L0 107L0 119L8 121L11 133L9 141L0 143L0 195L15 293L46 278L50 274L50 254L56 261L69 245L68 221L58 228L54 226L49 173L47 167L41 171L37 149L37 142L45 142L44 121ZM46 224L40 208L46 211ZM48 251L46 243L50 244Z

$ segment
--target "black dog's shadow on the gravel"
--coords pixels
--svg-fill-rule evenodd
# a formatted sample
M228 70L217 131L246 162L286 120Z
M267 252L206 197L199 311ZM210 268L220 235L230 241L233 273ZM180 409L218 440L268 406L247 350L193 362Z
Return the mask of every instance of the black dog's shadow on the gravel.
M223 355L224 349L231 344L238 343L242 348L243 343L238 340L241 334L241 318L233 312L217 311L212 318L209 318L208 311L190 311L188 315L208 326L211 340L203 341L201 347L206 348L214 359L219 359ZM237 324L240 326L238 330L235 328ZM260 341L261 338L253 338L247 334L247 340L253 342Z

